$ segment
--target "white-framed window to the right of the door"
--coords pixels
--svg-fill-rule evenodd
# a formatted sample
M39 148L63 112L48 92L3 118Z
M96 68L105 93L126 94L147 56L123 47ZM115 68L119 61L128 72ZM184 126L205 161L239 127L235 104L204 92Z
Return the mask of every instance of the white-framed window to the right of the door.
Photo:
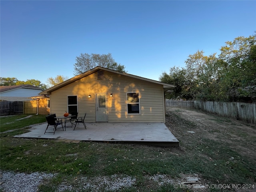
M140 114L139 93L127 93L127 112L128 114Z

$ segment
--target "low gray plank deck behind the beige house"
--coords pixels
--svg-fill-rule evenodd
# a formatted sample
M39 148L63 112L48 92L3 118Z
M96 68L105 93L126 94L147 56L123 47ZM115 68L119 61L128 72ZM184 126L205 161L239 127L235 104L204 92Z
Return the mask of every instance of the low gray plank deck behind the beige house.
M86 129L82 124L76 129L67 124L66 131L57 130L55 134L45 133L47 124L29 128L29 132L14 137L46 138L97 142L131 142L156 146L178 146L179 142L164 123L95 123L87 122ZM61 126L59 126L61 127ZM53 128L51 128L53 129ZM64 129L65 130L65 129Z

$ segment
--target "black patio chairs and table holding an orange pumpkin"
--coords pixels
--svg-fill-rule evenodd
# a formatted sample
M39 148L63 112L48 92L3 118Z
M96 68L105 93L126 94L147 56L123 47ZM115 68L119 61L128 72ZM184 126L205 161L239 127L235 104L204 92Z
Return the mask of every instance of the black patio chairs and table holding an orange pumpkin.
M55 134L56 130L57 130L57 127L59 125L61 125L60 128L58 129L61 129L64 131L64 128L65 128L65 131L66 131L66 123L67 122L70 122L71 123L71 127L73 127L73 125L75 126L74 127L74 130L76 128L76 124L79 124L79 123L82 123L84 125L84 128L86 129L86 124L84 122L84 119L85 119L85 116L86 116L86 113L84 115L84 117L78 117L78 113L72 113L68 116L56 116L56 114L50 114L50 115L47 115L45 116L46 117L46 121L47 121L47 127L46 127L46 130L44 132L45 133L53 133ZM63 121L64 121L64 126L63 126ZM53 132L48 132L48 128L53 128Z

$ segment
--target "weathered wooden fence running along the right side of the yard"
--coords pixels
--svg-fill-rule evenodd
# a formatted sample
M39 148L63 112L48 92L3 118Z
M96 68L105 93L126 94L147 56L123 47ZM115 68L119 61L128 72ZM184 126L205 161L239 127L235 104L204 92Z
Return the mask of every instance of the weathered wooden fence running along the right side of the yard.
M242 102L194 101L194 107L220 116L256 124L256 104Z

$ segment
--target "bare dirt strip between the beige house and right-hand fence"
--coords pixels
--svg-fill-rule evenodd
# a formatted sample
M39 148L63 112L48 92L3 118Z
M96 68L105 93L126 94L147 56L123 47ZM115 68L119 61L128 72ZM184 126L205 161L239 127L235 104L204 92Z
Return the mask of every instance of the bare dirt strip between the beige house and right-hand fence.
M197 141L208 138L221 141L230 146L234 151L249 158L255 158L256 154L256 125L230 118L220 117L200 110L184 108L168 108L173 112L167 117L166 125L179 140L180 137L191 139L197 136ZM180 117L180 121L173 117ZM176 120L173 122L172 120ZM183 140L186 142L186 140ZM185 150L185 149L184 149Z

